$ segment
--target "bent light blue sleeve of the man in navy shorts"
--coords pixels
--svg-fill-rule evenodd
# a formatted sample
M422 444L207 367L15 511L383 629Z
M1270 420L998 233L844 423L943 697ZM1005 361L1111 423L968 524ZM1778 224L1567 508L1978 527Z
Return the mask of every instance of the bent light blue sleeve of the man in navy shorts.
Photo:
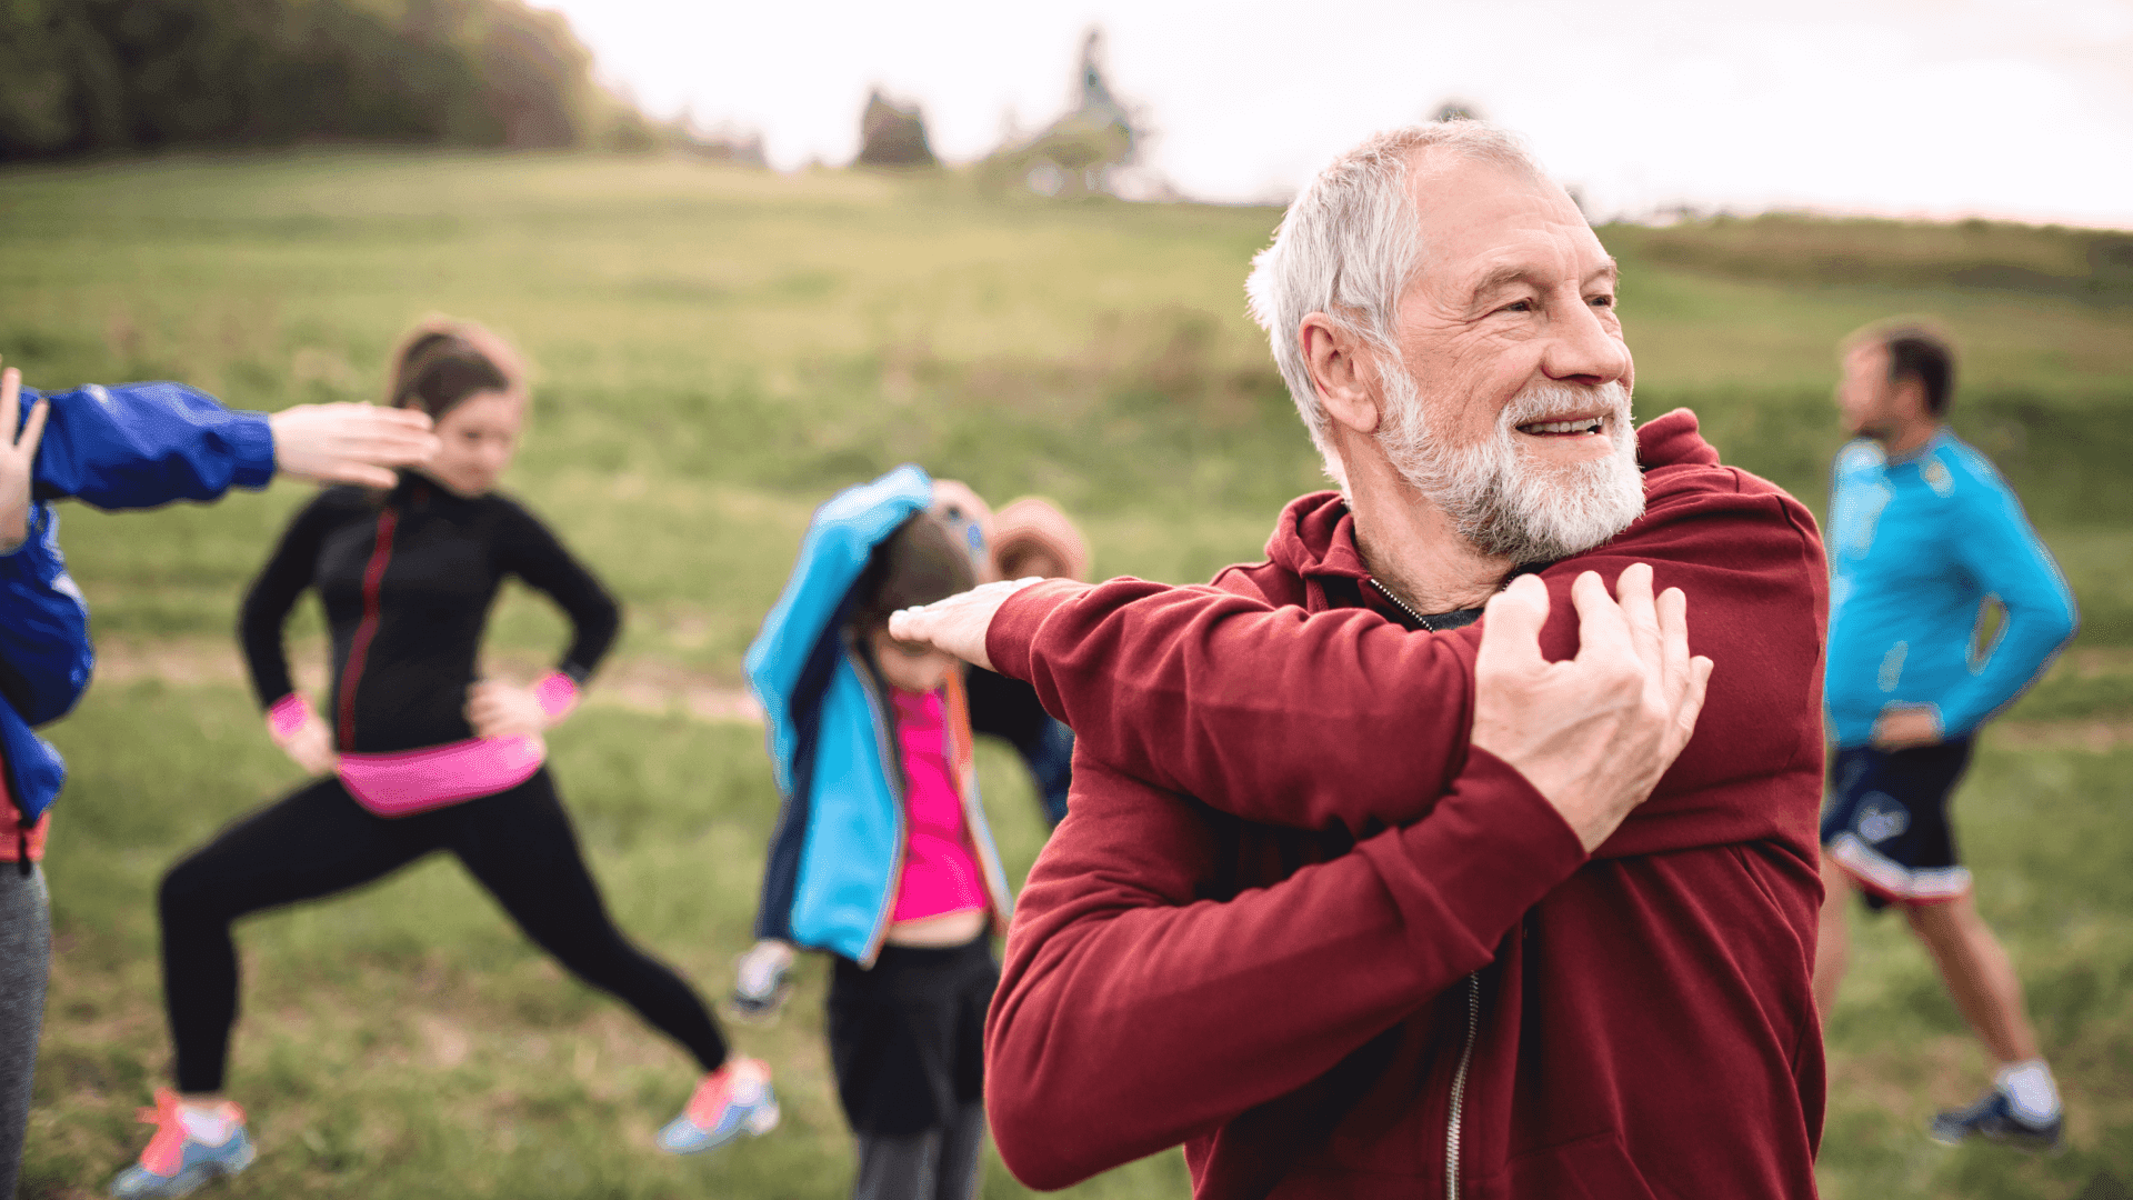
M2073 636L2073 591L2037 540L2022 504L1982 463L1962 472L1962 536L1956 559L2007 611L1984 664L1941 700L1941 730L1962 737L2007 707Z

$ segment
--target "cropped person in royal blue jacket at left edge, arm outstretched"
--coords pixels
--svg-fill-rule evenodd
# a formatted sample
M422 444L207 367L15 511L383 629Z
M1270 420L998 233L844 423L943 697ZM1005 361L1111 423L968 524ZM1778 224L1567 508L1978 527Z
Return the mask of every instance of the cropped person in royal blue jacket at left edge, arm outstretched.
M378 485L392 480L390 468L427 459L435 438L422 414L363 404L230 412L181 384L47 397L9 367L0 442L0 1196L13 1196L51 963L38 860L66 779L36 726L75 707L94 666L87 604L66 574L51 502L205 502L264 487L277 472Z

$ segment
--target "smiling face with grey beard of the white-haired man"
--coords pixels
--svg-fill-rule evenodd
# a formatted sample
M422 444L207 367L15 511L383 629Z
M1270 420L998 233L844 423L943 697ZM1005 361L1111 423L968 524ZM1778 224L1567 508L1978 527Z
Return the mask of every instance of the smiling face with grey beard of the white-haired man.
M1561 188L1427 156L1423 260L1380 363L1378 446L1487 555L1555 562L1645 508L1615 260Z

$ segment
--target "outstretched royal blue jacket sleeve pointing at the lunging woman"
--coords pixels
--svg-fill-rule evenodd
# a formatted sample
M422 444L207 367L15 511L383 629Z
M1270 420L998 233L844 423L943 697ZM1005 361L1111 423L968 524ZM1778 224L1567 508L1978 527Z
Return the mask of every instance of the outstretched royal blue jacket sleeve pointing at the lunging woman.
M41 393L23 389L23 419ZM218 500L273 478L264 412L232 412L183 384L87 384L49 395L36 498L96 508Z

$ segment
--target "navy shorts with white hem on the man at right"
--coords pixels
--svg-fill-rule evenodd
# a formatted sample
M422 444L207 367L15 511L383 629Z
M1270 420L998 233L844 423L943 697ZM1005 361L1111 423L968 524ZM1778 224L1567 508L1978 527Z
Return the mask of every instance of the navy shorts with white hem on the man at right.
M1822 852L1851 875L1869 907L1969 895L1947 796L1971 764L1971 739L1918 749L1860 745L1830 758Z

